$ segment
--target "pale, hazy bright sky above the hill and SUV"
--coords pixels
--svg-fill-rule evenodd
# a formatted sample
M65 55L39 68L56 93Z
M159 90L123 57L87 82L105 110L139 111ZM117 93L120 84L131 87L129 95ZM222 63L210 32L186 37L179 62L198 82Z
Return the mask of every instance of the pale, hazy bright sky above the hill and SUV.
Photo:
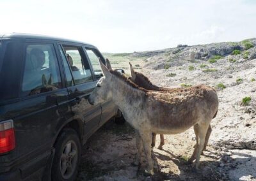
M139 52L256 37L256 0L1 0L0 33Z

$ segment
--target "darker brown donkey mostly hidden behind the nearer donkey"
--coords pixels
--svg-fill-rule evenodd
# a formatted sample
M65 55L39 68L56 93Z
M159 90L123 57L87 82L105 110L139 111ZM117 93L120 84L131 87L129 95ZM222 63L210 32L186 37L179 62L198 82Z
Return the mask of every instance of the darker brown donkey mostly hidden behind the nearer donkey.
M108 65L107 68L109 68L110 62L109 62L108 59L106 60L106 64ZM131 69L131 80L132 80L132 82L136 83L140 87L143 87L144 89L147 89L147 90L152 90L152 91L171 91L172 92L173 89L170 89L170 88L167 88L167 87L157 87L152 82L150 82L150 80L147 78L147 76L143 75L142 73L138 73L138 72L134 71L134 69L132 68L131 62L129 62L129 64L130 64L130 69ZM216 117L216 114L217 114L217 112L215 113L214 117ZM197 131L196 127L194 127L194 131L195 131L195 134L197 135L196 136L196 144L198 144L198 133L197 133L198 131ZM204 143L203 151L206 150L206 146L207 146L207 143L209 141L209 137L211 135L211 132L212 132L212 128L211 128L211 125L209 125L208 130L207 130L207 134L206 134L206 137L205 137L205 143ZM161 141L160 141L160 145L159 145L158 148L162 149L163 145L164 145L164 135L160 134L160 138L161 138ZM153 136L152 136L152 147L154 147L155 144L156 144L156 133L153 133ZM189 162L191 162L191 161L189 160Z

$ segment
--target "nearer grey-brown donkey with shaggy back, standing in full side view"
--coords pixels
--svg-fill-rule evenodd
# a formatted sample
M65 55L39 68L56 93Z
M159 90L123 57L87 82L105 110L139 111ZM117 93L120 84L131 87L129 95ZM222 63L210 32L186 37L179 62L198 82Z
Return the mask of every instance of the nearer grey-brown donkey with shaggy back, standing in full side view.
M109 70L102 62L100 67L104 76L90 94L88 102L97 105L108 99L113 101L124 114L125 120L134 127L137 147L134 164L141 163L143 147L147 157L145 172L153 175L151 133L178 134L196 125L199 141L191 160L196 160L194 168L197 170L207 129L218 110L216 92L205 85L177 88L168 92L148 91L124 75Z

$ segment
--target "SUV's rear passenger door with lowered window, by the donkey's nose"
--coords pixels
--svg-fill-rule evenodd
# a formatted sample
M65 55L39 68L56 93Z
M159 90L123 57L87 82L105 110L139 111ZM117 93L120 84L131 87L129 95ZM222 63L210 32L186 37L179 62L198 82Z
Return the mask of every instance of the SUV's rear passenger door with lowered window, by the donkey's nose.
M86 141L99 128L102 113L100 105L92 106L88 103L88 97L95 88L97 80L93 79L82 45L65 42L60 43L59 48L70 95L69 104L74 119L84 122L83 140Z

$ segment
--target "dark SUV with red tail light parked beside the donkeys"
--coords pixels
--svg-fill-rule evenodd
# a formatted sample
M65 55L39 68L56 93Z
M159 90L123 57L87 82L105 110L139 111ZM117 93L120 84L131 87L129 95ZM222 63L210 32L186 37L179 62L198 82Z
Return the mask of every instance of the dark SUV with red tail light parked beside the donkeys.
M88 96L102 76L93 45L0 35L0 180L74 180L81 145L118 110Z

